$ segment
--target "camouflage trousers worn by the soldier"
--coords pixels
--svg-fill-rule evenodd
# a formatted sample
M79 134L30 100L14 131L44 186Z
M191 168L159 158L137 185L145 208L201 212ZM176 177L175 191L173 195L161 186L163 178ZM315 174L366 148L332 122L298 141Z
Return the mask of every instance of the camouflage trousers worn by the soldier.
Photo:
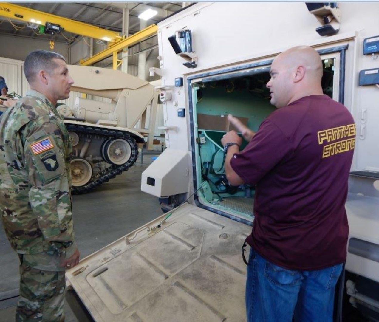
M64 321L65 272L20 265L20 298L16 321Z

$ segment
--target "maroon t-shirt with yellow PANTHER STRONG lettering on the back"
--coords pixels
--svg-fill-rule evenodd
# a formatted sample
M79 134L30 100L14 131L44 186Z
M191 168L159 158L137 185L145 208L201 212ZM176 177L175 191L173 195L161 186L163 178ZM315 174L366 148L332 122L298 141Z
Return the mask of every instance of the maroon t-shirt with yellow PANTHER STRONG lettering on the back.
M296 270L346 260L345 202L356 128L348 109L326 95L277 109L230 161L256 184L247 242L272 263Z

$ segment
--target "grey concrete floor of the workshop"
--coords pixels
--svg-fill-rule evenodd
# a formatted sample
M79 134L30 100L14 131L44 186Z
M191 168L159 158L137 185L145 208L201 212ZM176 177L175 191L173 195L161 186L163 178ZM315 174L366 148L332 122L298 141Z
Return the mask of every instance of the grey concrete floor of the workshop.
M73 196L74 230L81 258L162 214L158 198L141 192L141 173L152 163L152 157L144 154L142 164L139 157L122 175L92 192ZM19 259L9 245L1 222L0 226L0 322L8 322L14 321ZM78 321L68 305L65 313L66 322Z

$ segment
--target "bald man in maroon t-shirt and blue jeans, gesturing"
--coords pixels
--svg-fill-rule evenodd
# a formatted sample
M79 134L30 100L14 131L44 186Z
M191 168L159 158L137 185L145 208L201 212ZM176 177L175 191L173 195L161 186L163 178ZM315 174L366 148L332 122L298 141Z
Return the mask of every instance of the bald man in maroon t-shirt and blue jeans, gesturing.
M323 95L311 47L274 59L267 87L277 110L257 133L229 116L221 142L230 184L255 185L246 280L248 321L332 321L346 260L345 202L356 128L348 109Z

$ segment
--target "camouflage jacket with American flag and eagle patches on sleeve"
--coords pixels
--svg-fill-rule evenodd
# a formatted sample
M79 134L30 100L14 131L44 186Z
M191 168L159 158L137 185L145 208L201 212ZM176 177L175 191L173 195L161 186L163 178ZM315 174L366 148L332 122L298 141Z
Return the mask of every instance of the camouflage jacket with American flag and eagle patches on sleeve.
M39 92L28 91L0 117L0 209L17 253L68 258L77 250L71 152L61 116Z

